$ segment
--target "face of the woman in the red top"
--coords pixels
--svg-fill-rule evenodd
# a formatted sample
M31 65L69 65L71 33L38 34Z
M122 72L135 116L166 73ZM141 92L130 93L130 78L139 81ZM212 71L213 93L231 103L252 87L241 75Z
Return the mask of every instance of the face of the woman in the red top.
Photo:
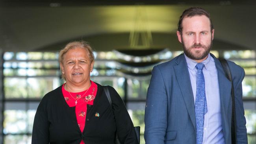
M63 63L60 66L65 74L67 84L81 86L90 83L93 63L87 53L83 48L74 48L63 56Z

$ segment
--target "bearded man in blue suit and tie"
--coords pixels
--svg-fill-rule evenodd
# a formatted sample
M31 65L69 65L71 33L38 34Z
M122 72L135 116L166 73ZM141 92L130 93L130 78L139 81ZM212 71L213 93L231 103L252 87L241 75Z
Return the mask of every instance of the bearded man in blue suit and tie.
M210 49L210 14L186 9L177 36L184 54L154 66L145 108L146 144L231 144L231 83ZM242 102L243 68L228 61L236 105L237 144L247 144Z

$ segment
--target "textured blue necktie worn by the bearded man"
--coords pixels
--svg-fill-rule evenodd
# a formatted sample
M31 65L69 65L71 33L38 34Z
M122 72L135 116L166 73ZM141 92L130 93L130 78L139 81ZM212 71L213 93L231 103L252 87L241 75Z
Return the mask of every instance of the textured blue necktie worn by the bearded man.
M202 144L204 131L204 114L207 113L207 103L205 97L205 85L203 74L203 63L197 63L197 93L195 102L195 116L197 128L197 144Z

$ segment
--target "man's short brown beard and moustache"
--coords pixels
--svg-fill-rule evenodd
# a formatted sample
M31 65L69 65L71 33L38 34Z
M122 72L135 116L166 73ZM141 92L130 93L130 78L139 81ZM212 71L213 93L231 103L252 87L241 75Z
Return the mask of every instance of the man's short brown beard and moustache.
M212 41L209 45L202 45L202 44L193 44L192 46L190 46L189 48L186 48L185 44L183 43L183 39L182 39L182 46L183 46L183 50L184 50L184 53L186 54L187 57L189 57L190 59L194 59L194 60L200 60L200 59L204 59L209 53L210 53L210 50L211 50L211 47L212 47ZM200 54L200 52L196 52L196 54L193 54L191 52L191 50L195 47L202 47L204 48L204 52L202 54Z

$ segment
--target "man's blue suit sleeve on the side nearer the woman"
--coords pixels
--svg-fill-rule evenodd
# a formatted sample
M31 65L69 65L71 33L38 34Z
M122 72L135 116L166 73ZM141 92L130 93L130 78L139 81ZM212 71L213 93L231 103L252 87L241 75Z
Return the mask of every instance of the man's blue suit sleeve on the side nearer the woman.
M164 144L166 129L167 93L161 71L158 66L154 66L145 107L146 144Z

